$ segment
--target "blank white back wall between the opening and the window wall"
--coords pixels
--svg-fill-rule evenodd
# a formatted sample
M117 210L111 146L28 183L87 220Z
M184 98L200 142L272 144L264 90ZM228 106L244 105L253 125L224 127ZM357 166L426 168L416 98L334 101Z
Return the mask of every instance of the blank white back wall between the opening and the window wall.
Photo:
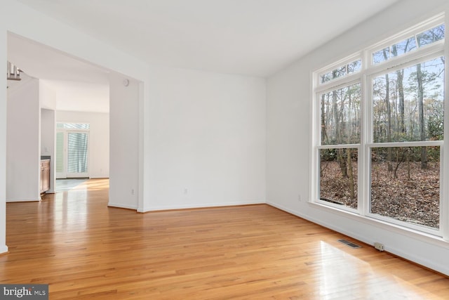
M151 71L150 197L142 210L265 200L265 81L175 68ZM147 187L148 185L145 185Z

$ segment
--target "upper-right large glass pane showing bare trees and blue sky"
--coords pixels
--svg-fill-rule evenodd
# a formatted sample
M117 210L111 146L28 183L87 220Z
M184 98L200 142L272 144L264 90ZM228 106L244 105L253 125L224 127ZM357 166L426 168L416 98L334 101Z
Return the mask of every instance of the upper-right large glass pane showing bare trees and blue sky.
M443 139L444 58L373 79L375 143Z

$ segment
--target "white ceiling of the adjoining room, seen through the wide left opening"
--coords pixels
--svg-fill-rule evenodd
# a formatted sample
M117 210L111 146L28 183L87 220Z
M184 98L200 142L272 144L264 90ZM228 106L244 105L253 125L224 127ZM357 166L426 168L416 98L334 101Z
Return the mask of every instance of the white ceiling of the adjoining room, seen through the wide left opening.
M8 33L8 61L55 93L56 110L109 112L106 70Z

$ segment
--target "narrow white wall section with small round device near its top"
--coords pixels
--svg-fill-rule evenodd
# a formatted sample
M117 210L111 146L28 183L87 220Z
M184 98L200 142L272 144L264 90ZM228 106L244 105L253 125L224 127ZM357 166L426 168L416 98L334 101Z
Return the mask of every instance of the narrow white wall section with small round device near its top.
M138 209L139 82L109 76L110 171L109 206Z

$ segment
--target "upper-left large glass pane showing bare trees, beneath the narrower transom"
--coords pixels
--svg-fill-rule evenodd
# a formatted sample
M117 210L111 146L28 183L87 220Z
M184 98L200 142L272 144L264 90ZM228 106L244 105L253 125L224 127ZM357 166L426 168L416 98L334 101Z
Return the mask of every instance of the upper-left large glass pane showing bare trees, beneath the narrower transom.
M321 144L360 143L360 84L323 93Z

